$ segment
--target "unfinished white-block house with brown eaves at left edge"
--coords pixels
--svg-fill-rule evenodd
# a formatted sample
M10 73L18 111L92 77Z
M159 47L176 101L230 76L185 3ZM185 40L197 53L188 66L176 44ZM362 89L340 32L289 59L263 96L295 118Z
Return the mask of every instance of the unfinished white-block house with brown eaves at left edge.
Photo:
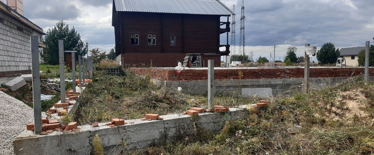
M0 0L0 84L31 74L31 35L39 36L39 50L45 47L43 29L23 16L22 0L7 4Z

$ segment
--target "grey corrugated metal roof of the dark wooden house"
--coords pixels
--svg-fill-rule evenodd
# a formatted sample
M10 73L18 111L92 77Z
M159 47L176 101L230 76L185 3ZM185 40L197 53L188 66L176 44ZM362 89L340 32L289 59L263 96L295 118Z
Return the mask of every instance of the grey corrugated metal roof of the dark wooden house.
M233 12L219 0L114 0L117 11L226 15Z

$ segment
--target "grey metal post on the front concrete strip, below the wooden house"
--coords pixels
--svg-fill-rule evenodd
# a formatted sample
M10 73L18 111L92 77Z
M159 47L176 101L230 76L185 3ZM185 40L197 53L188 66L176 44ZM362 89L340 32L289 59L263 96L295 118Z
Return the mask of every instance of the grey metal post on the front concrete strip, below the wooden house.
M214 103L214 60L208 60L208 109L212 109Z

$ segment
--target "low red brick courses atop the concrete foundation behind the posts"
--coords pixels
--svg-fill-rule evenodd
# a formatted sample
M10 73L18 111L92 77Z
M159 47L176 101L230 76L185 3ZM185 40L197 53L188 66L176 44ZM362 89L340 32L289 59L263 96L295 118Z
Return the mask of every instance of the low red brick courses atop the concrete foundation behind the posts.
M186 69L180 74L175 69L165 68L131 68L131 71L138 75L149 75L151 78L165 81L190 81L208 80L207 69ZM310 77L351 77L362 75L365 68L310 68ZM241 76L239 76L239 73ZM369 75L374 75L374 68L369 69ZM261 79L261 78L303 78L304 68L235 68L215 69L216 80L225 79Z

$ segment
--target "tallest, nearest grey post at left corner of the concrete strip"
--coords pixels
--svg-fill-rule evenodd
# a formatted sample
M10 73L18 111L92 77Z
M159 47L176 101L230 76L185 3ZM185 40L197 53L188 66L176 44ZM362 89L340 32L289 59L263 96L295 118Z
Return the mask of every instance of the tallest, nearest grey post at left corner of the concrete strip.
M40 101L39 42L38 36L31 36L31 65L33 72L34 131L42 129L42 102Z

